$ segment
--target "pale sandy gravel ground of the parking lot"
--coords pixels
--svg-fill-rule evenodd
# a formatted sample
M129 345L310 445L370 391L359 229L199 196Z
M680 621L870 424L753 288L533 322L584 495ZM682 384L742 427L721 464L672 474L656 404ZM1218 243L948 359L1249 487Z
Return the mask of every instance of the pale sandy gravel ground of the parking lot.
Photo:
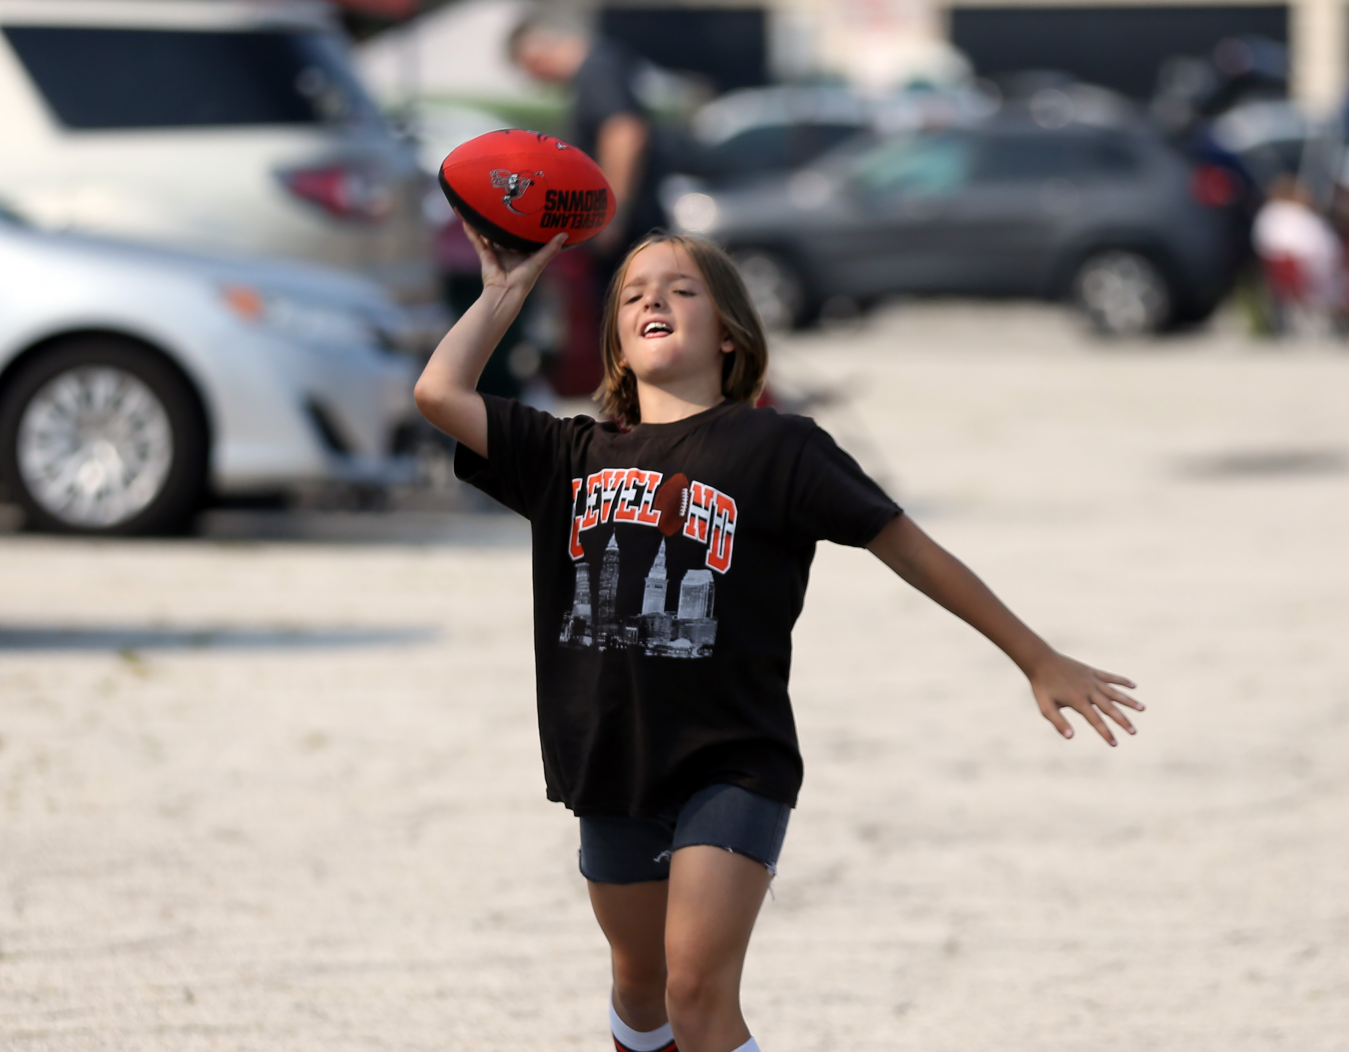
M982 639L822 547L765 1052L1349 1048L1349 351L931 305L776 369L1149 710L1062 741ZM0 1047L607 1047L527 531L378 519L0 536Z

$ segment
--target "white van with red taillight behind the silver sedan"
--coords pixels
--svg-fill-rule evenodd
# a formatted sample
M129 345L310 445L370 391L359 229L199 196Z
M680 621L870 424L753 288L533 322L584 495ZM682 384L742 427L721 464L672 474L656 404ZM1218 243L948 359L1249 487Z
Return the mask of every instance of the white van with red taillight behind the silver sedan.
M35 226L353 270L430 328L426 192L325 4L0 0L0 207Z

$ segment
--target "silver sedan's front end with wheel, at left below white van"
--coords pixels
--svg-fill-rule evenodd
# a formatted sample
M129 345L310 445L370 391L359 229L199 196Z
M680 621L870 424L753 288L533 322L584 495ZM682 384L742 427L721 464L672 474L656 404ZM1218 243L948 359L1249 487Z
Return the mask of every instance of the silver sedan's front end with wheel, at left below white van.
M407 332L337 271L0 219L0 483L39 528L148 533L210 494L405 479Z

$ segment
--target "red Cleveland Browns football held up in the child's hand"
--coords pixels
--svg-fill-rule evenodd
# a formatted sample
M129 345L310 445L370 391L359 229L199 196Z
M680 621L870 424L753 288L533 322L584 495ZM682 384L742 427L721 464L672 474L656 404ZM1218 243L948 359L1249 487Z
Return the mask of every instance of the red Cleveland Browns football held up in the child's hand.
M599 165L537 131L490 131L455 147L441 162L440 188L468 226L519 253L560 232L580 244L614 217L614 190Z

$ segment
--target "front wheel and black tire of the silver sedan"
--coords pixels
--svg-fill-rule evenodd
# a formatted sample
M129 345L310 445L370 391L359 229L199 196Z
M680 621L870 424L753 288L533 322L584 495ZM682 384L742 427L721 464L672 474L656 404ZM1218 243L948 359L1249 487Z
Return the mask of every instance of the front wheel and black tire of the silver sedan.
M0 396L0 474L34 529L181 532L206 492L206 448L196 392L127 340L50 346Z

